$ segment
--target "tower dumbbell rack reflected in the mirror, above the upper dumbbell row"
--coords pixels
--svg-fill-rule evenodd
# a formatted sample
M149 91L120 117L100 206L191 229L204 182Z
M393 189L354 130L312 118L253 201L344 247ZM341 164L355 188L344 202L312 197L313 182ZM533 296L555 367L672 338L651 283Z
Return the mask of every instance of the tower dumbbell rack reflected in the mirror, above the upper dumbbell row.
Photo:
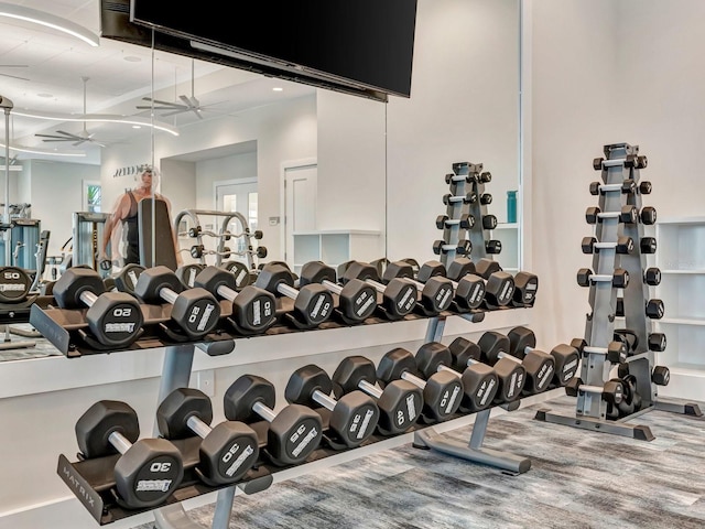
M453 164L453 173L445 176L451 187L451 194L446 196L455 199L444 201L446 217L453 224L443 225L443 241L456 247L455 250L441 252L440 260L446 267L448 261L458 253L457 246L462 239L462 231L467 234L466 239L470 241L470 251L475 260L501 251L501 242L491 239L490 234L490 230L497 227L497 217L487 210L487 205L492 202L492 195L485 193L485 184L490 182L492 176L482 169L481 163L456 162ZM438 217L438 227L441 227L442 217ZM460 226L460 218L468 219L467 227Z

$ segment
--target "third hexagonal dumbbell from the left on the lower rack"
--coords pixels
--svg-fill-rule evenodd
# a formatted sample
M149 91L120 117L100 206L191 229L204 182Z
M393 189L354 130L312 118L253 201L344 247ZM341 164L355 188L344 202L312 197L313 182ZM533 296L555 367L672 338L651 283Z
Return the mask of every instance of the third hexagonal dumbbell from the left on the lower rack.
M270 461L279 466L303 463L323 438L321 415L301 404L285 406L274 412L274 386L257 375L242 375L226 390L223 403L226 419L252 422L261 418L269 422L267 447Z

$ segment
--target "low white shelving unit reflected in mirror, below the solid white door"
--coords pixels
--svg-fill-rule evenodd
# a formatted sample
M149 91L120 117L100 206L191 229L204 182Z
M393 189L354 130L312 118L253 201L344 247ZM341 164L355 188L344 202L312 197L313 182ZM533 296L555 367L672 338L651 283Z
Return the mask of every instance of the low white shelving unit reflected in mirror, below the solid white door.
M382 256L380 233L361 229L300 231L294 237L294 272L308 261L336 268L352 259L371 261Z

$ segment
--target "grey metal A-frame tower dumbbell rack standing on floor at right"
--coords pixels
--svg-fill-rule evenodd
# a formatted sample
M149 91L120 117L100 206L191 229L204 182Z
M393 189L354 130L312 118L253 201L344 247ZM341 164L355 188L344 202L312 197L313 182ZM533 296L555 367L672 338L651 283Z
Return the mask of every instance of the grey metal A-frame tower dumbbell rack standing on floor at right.
M595 238L598 242L612 244L593 250L593 270L596 274L614 277L615 271L623 269L630 280L622 289L622 296L618 296L618 289L611 281L592 282L589 287L589 304L592 312L586 316L585 343L587 350L583 352L581 363L581 379L583 384L604 387L610 379L614 368L604 350L608 344L619 336L615 320L623 317L623 328L629 330L636 339L628 352L622 368L636 378L636 390L642 399L640 410L617 420L608 419L608 403L600 395L578 391L575 418L547 413L540 410L536 419L546 422L572 425L585 430L600 431L617 435L651 441L654 439L650 429L644 425L627 424L633 419L652 409L701 415L697 404L679 403L675 400L663 401L658 398L657 385L652 380L655 355L660 350L661 341L652 333L651 319L661 317L658 311L648 317L647 306L659 306L660 300L650 300L649 285L644 280L647 270L647 252L649 239L644 238L644 224L653 224L655 210L642 208L642 194L651 192L649 182L639 182L639 170L647 166L647 158L639 155L639 147L629 143L605 145L605 158L594 161L594 169L601 172L601 185L610 186L607 191L597 191L600 212L620 212L625 206L633 206L640 212L634 223L625 223L618 216L597 219ZM625 186L629 185L630 192ZM651 217L651 218L650 218ZM631 253L618 253L617 240L630 237L633 241ZM646 242L646 244L644 244ZM643 247L642 247L643 246ZM617 331L617 334L616 334ZM663 338L664 341L665 338ZM594 349L601 349L595 352Z

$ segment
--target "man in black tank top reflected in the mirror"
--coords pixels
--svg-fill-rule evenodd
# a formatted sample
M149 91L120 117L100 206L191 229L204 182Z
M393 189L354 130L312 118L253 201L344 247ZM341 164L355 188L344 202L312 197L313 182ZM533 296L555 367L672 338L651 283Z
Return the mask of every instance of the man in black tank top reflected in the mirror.
M140 236L137 219L137 204L144 198L152 197L152 188L154 187L154 184L155 182L152 182L152 169L147 168L142 171L138 185L131 191L126 191L118 197L112 209L112 215L106 222L102 234L101 262L111 261L110 257L107 255L108 242L110 242L115 228L121 225L123 230L122 239L126 242L124 264L140 263ZM154 197L166 203L166 208L170 212L171 217L171 204L169 199L159 193L154 193Z

